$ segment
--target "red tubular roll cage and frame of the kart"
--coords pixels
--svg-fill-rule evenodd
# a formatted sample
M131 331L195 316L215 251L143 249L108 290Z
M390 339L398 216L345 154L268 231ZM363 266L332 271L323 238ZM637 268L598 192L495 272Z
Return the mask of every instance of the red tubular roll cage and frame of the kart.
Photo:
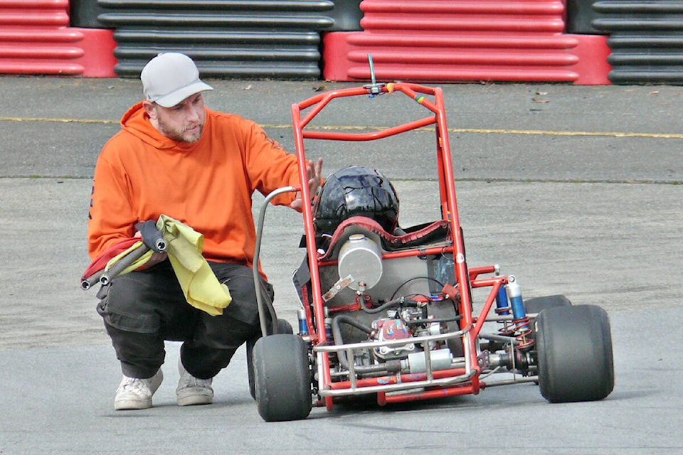
M342 97L354 97L371 93L377 94L371 90L378 90L378 94L402 92L404 95L412 98L415 102L428 109L430 114L423 119L417 119L413 122L401 124L396 127L382 129L380 131L371 133L349 133L349 132L330 132L330 131L309 131L305 127L312 121L312 119L319 114L319 112L326 107L329 102ZM433 97L433 101L428 100L424 95ZM302 112L310 109L304 117ZM465 382L457 384L453 387L435 387L433 390L426 390L425 392L406 393L401 395L386 396L383 392L378 392L378 402L389 401L408 401L419 400L428 397L448 396L448 395L463 395L463 394L477 394L483 385L480 384L479 373L480 369L477 362L477 349L475 346L477 336L480 333L482 325L485 322L486 315L491 309L495 296L500 286L507 283L507 277L492 277L489 279L477 280L480 274L488 274L494 272L493 266L477 267L474 269L467 269L465 262L465 246L462 238L462 231L460 230L460 219L457 212L457 201L455 198L455 178L452 172L452 162L450 156L450 144L448 140L448 127L446 124L445 105L443 102L443 94L438 87L425 87L423 85L416 85L410 83L392 83L387 85L371 85L366 87L356 87L350 89L331 90L329 92L322 92L319 95L309 98L303 102L292 105L292 121L294 126L295 147L297 159L300 166L300 179L302 182L307 181L307 159L305 156L304 139L324 139L331 141L371 141L375 139L383 139L396 134L401 134L414 129L426 127L428 125L435 125L436 130L436 155L439 178L439 192L441 212L445 220L450 223L450 228L453 237L453 245L446 248L439 248L439 252L452 252L455 259L455 279L459 284L457 291L460 292L460 307L459 312L462 315L460 319L460 330L470 331L469 346L466 349L466 355L469 354L469 364L471 365L472 374L469 375ZM302 186L302 200L311 200L312 195L309 193L309 188L306 185ZM310 264L311 274L311 288L313 299L313 311L316 316L316 326L310 333L310 341L313 346L326 346L327 338L325 336L324 327L324 302L322 300L323 291L320 284L319 267L322 264L330 264L331 262L322 262L319 260L317 247L314 239L314 227L312 207L309 204L304 204L303 207L304 228L306 235L306 246L308 252L308 259ZM424 252L422 252L423 254ZM416 255L417 252L399 252L391 253L392 257L398 255ZM390 254L383 257L388 258ZM472 317L472 296L470 294L471 287L492 287L484 309L478 318ZM321 353L322 365L319 365L319 372L322 373L319 380L320 390L339 390L340 388L348 387L349 382L332 382L332 375L329 369L329 352L323 351ZM322 367L322 368L321 368ZM455 375L455 371L462 374L460 370L447 370L447 372L430 372L428 376L443 377L443 375ZM425 375L415 375L415 378L423 378ZM411 378L412 380L418 380ZM406 375L403 375L403 380L406 380ZM390 381L387 378L370 378L359 380L361 385L380 386L387 384ZM326 396L325 403L328 410L332 409L332 397Z

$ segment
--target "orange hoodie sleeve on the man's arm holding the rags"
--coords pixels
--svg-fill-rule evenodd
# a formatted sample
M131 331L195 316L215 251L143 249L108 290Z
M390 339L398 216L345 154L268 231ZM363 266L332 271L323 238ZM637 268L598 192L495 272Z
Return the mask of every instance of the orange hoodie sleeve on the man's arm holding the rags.
M92 181L88 211L88 254L91 259L116 242L132 237L137 221L125 167L117 163L116 154L107 153L108 146L110 144L97 160Z

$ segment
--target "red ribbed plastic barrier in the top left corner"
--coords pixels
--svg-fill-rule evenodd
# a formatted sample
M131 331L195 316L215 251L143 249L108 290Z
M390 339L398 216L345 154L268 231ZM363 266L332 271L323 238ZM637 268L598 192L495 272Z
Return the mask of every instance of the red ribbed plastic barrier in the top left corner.
M0 0L0 73L114 75L106 30L69 27L68 0Z

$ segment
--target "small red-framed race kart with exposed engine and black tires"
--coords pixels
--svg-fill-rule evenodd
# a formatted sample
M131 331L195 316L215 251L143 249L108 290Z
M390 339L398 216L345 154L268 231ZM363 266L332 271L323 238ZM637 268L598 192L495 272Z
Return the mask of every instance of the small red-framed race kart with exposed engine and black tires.
M381 95L406 96L426 117L374 132L307 128L331 102L366 97L371 103ZM334 173L316 195L301 186L266 197L255 263L269 201L301 191L302 200L314 202L302 210L306 255L293 280L298 333L257 292L263 337L248 361L265 421L305 419L313 406L332 410L354 397L385 405L526 382L539 385L549 402L610 394L613 353L603 309L573 305L562 295L525 301L517 279L498 265L468 266L440 88L373 82L330 90L292 105L292 121L303 182L305 139L374 141L433 125L441 216L411 228L386 223L391 184L362 167ZM363 186L371 197L359 202L354 193ZM269 326L270 320L276 322Z

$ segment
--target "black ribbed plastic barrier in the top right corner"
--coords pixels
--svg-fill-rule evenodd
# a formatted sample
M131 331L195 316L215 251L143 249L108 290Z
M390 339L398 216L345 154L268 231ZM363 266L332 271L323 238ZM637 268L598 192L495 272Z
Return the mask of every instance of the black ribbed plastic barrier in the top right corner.
M595 1L615 84L683 83L683 1Z

